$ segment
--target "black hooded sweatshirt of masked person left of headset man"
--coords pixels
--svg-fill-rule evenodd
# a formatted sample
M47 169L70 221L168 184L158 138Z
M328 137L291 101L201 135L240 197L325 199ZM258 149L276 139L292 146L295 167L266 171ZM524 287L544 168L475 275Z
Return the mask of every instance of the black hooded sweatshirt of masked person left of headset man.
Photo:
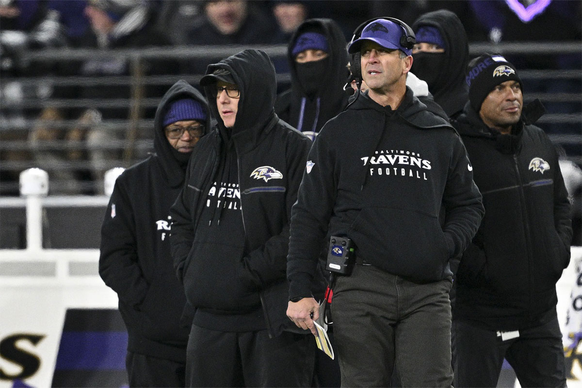
M292 55L297 37L307 31L317 31L328 41L329 56L316 62L296 63ZM287 49L291 88L277 97L275 112L297 130L310 132L313 138L322 126L342 112L347 105L347 94L343 91L349 70L346 38L338 24L331 19L308 19L293 33ZM298 70L304 67L304 70ZM301 83L299 71L310 74L317 81L314 93L308 94L306 83ZM308 76L309 77L309 76Z

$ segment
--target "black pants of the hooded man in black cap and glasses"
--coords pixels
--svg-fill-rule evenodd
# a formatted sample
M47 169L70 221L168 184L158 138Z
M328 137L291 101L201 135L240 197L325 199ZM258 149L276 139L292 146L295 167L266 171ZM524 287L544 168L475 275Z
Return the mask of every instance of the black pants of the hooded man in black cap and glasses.
M308 387L313 376L315 337L267 330L217 332L192 325L186 351L190 387Z

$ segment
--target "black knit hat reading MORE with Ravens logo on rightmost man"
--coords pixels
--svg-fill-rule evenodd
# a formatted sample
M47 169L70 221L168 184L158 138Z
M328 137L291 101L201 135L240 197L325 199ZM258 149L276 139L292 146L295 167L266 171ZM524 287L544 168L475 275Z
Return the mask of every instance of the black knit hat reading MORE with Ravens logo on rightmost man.
M521 79L517 75L515 67L507 59L497 54L484 54L471 60L467 66L469 85L469 101L475 112L481 110L481 104L489 92L505 81L517 81L521 85Z

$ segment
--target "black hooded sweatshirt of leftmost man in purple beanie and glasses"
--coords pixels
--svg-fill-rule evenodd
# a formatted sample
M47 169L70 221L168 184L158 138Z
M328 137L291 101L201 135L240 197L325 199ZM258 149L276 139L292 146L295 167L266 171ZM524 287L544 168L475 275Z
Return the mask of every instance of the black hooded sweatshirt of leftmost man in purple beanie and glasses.
M127 350L185 362L189 329L180 317L186 298L172 267L169 210L187 163L176 158L162 127L170 102L180 98L196 99L208 112L203 95L185 81L166 92L155 114L155 154L115 181L101 227L99 273L119 296ZM210 120L205 124L208 130Z

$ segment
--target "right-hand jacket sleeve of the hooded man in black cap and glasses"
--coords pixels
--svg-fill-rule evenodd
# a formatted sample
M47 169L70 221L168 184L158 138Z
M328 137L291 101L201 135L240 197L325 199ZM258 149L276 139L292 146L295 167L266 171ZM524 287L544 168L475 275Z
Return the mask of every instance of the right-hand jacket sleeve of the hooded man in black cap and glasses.
M295 143L295 142L293 142ZM311 146L311 140L301 138L296 144L288 143L288 187L286 191L285 207L287 219L291 219L291 209L297 201L297 191L301 184L301 177L307 160L307 154ZM281 233L276 234L257 250L243 258L243 266L253 277L253 282L258 286L264 286L276 280L285 279L287 268L287 254L289 248L289 222Z

